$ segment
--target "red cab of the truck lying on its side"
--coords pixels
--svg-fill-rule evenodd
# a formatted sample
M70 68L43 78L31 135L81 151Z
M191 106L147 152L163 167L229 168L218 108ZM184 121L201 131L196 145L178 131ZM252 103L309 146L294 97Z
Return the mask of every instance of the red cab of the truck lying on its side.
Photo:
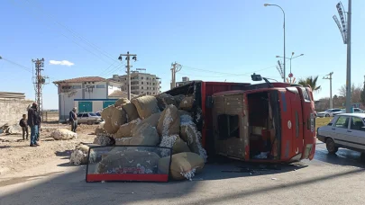
M294 162L315 154L310 87L247 85L213 95L215 154L244 161Z

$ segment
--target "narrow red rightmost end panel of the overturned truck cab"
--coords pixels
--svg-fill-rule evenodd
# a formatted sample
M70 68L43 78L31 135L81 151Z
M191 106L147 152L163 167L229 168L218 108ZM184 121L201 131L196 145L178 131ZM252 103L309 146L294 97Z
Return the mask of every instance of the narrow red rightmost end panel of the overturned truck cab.
M303 153L302 159L313 159L315 156L315 102L312 90L308 87L297 87L302 101L303 112Z

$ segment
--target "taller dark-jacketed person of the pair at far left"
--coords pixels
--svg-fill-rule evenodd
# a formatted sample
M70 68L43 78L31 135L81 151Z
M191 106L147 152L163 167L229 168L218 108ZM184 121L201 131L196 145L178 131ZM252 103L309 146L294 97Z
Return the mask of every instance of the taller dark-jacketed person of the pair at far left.
M39 125L41 124L41 116L38 112L37 103L32 103L32 107L28 110L28 125L31 127L31 147L39 146L37 139L39 135Z

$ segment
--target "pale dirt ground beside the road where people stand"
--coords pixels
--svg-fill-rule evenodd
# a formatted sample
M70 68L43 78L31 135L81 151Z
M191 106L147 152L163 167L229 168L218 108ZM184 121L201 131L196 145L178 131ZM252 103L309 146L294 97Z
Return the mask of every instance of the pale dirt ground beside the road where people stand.
M93 134L97 125L79 125L78 138L71 140L54 140L50 137L51 131L58 128L70 129L68 125L56 122L44 122L41 125L41 138L39 147L30 147L29 140L23 140L22 135L0 135L0 181L1 178L16 176L27 170L52 160L58 160L60 156L69 157L71 152L81 142L92 143L96 135ZM29 130L30 131L30 130ZM30 138L30 137L29 137ZM35 167L35 168L34 168ZM27 173L32 175L32 173Z

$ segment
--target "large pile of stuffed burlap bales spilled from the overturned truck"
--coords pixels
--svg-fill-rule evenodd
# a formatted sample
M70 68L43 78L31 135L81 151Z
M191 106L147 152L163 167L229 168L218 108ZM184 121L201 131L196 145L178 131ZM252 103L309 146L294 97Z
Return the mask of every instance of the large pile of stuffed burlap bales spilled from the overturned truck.
M131 167L130 161L143 166L144 170L158 168L160 173L170 172L172 178L176 180L191 180L202 170L206 161L201 133L197 130L192 117L194 104L193 96L159 94L156 97L137 97L131 102L120 99L114 105L105 108L102 111L105 119L102 129L105 133L97 134L96 144L169 147L172 153L163 148L160 148L162 150L160 152L156 152L156 148L149 147L140 147L139 151L135 148L117 148L122 151L117 152L118 154L113 151L105 154L98 163L98 172L123 172L118 171L118 167L127 165ZM149 157L153 163L149 161ZM145 164L146 159L153 166ZM171 161L170 170L169 161ZM112 170L106 170L107 167Z

